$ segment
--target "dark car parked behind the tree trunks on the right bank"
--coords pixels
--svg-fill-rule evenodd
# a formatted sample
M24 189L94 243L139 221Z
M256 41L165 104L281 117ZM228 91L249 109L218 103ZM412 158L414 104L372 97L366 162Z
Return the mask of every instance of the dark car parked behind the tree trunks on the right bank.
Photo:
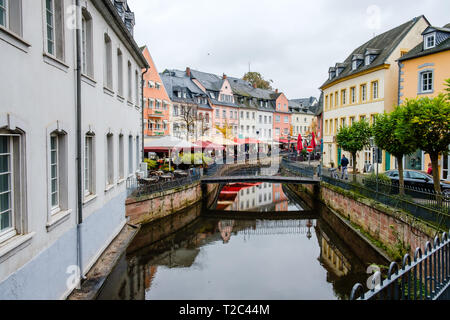
M391 179L392 184L398 185L398 170L387 171L385 175ZM403 178L405 181L405 187L407 188L423 190L431 193L434 192L433 177L425 172L417 170L404 170ZM441 181L441 190L445 198L450 199L450 183Z

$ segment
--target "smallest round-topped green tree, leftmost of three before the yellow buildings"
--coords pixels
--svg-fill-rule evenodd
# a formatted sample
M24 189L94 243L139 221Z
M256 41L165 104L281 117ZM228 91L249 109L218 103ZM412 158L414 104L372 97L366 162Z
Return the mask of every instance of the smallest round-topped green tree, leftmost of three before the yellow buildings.
M353 159L353 182L356 182L356 155L370 146L372 130L366 120L354 122L350 127L341 127L337 133L337 144L344 151L350 152Z

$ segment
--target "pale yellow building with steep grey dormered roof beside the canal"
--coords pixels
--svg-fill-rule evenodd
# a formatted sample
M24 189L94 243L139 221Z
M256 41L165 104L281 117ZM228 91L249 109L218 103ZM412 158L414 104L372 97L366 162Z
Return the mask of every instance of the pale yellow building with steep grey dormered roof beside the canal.
M392 30L384 32L356 48L343 63L329 69L323 92L323 164L340 165L344 153L336 144L341 126L366 119L373 122L376 114L392 111L398 103L398 73L396 61L422 41L422 32L429 26L424 16L416 17ZM371 149L357 155L357 170L364 172L366 164L373 164ZM379 170L390 170L395 159L383 152ZM352 166L352 161L350 163Z

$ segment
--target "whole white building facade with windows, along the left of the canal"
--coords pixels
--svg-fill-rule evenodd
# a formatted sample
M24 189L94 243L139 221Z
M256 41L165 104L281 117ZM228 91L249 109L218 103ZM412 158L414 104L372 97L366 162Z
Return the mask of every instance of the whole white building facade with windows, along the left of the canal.
M77 268L86 274L126 223L125 181L141 162L146 62L126 1L83 0L81 15L72 0L2 3L11 10L0 20L0 299L63 299Z

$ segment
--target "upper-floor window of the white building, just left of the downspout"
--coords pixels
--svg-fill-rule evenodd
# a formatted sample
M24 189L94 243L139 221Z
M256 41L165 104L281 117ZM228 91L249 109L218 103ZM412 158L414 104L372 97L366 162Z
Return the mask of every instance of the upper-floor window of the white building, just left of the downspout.
M8 1L11 3L11 1ZM46 0L46 51L48 54L64 60L64 22L63 0Z

